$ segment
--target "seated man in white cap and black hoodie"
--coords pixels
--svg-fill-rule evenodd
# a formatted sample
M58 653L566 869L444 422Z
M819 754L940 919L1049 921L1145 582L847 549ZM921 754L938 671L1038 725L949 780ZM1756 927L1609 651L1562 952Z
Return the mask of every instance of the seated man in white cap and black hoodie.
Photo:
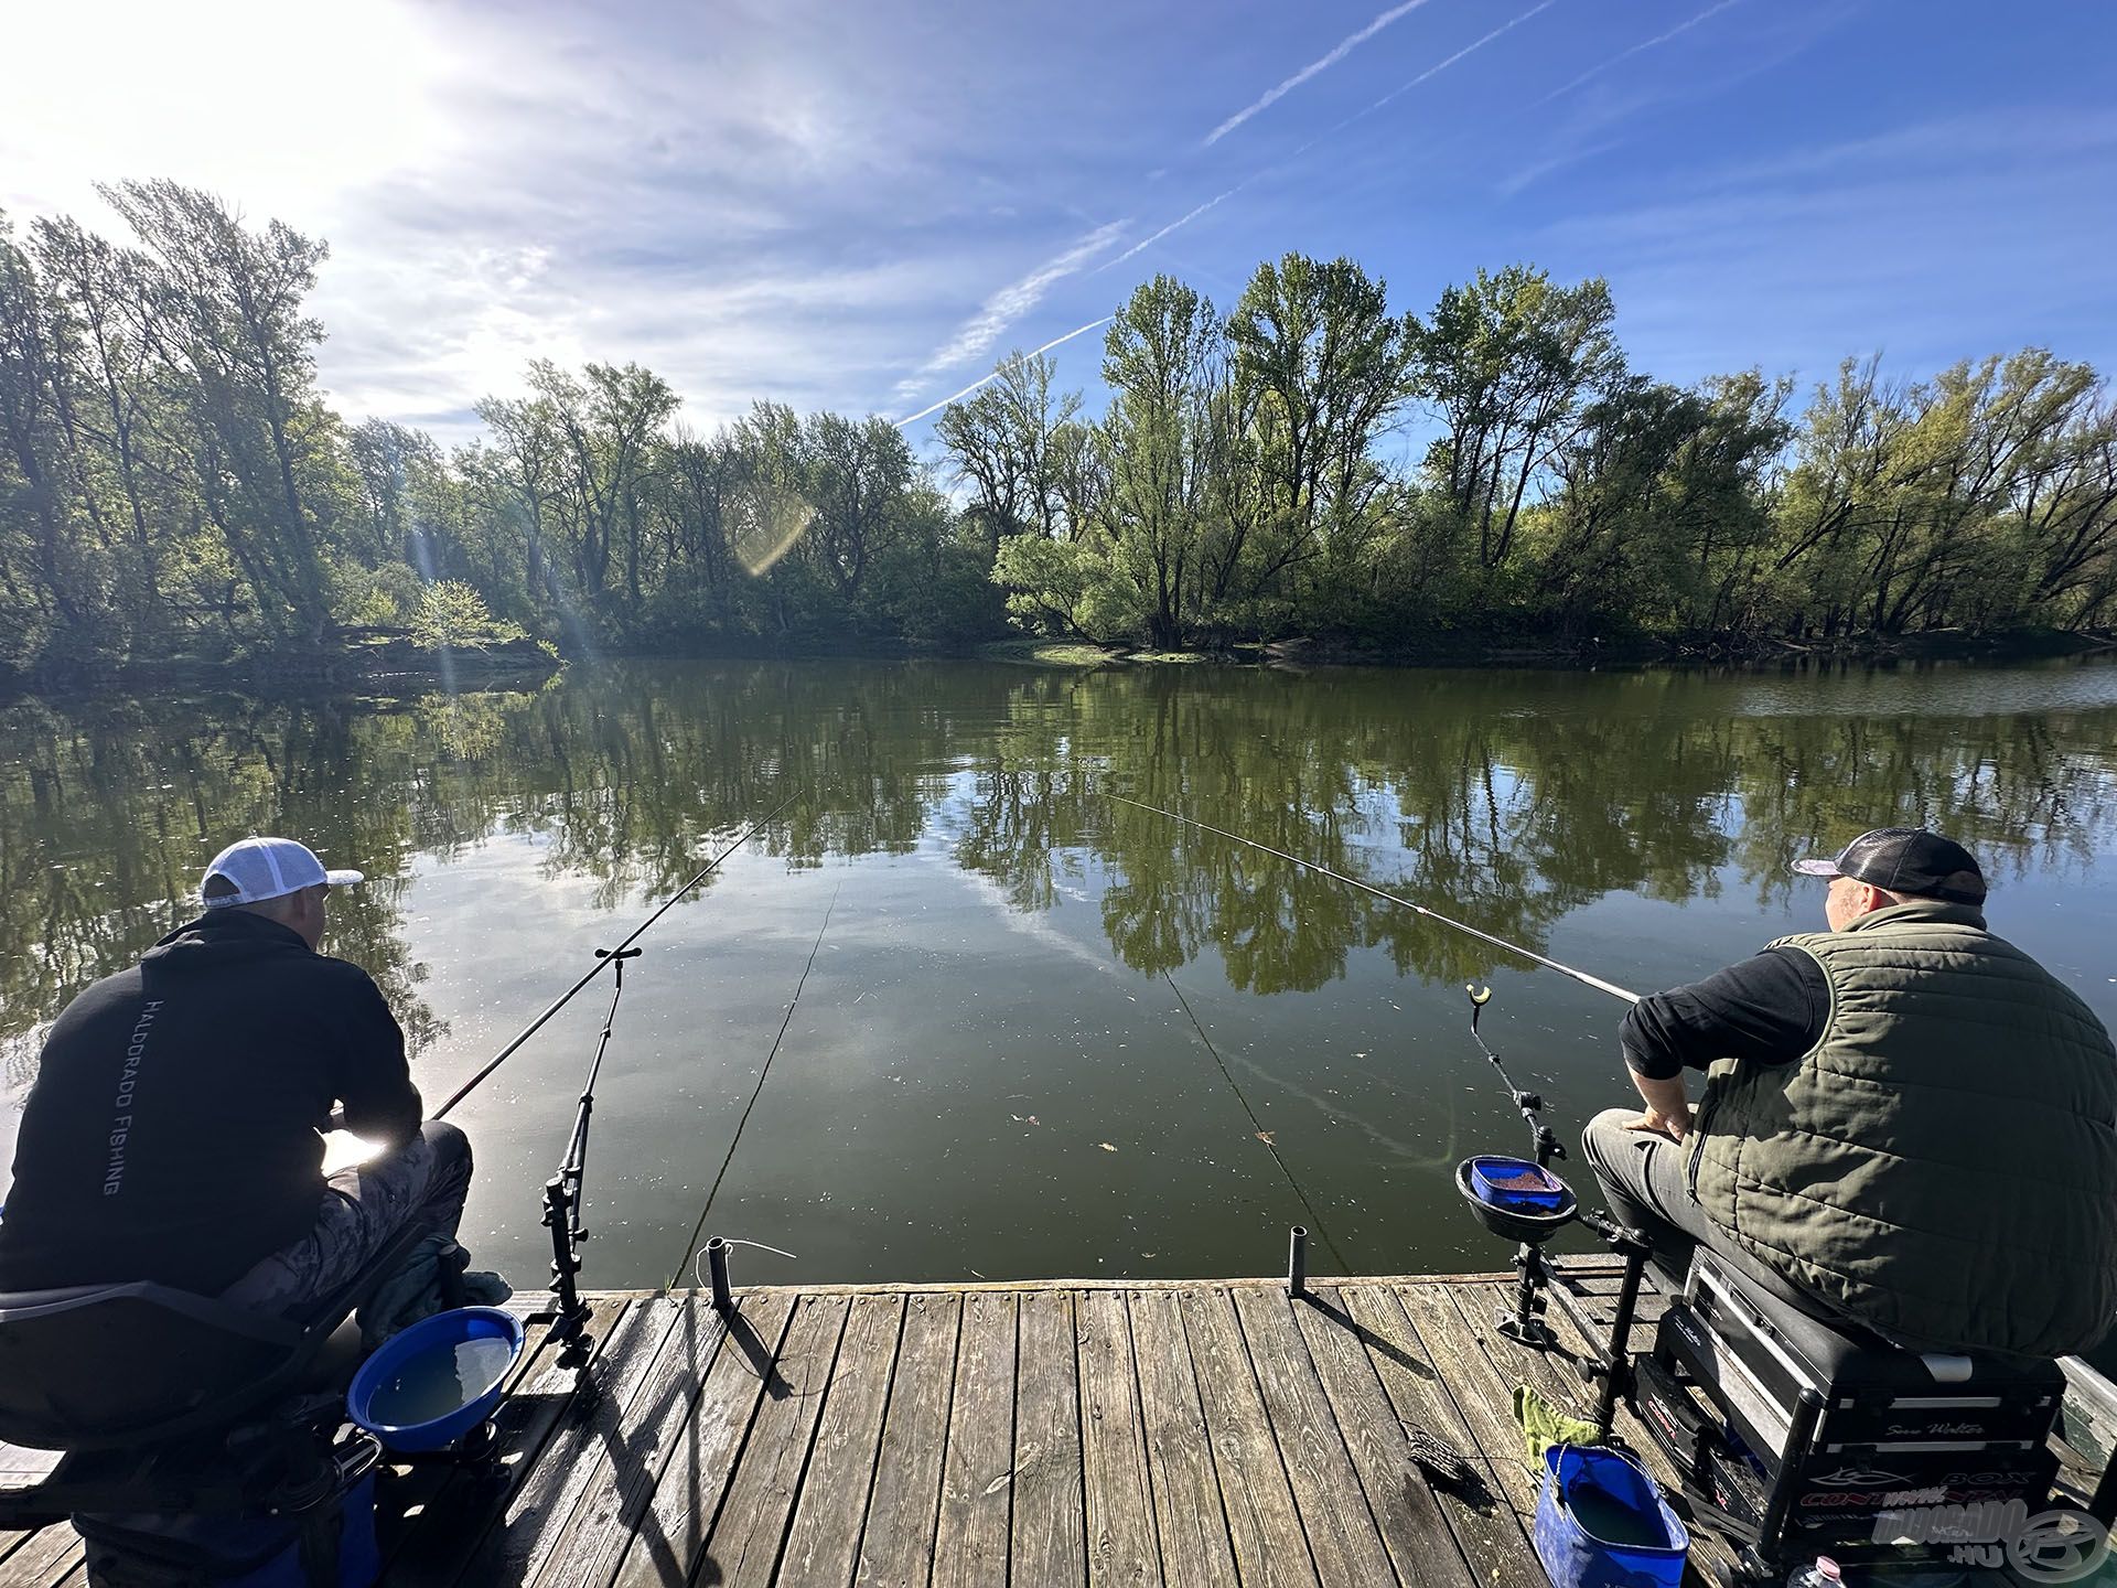
M360 881L292 838L233 843L199 919L66 1006L23 1105L0 1289L152 1279L286 1315L409 1222L455 1232L470 1143L421 1129L381 989L318 953L330 891ZM381 1154L326 1179L334 1126Z

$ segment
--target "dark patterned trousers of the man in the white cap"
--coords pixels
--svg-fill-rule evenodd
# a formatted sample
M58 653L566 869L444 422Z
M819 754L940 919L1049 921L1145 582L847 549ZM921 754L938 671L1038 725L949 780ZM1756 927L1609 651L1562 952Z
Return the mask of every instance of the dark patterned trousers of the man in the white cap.
M453 1237L468 1194L470 1137L428 1120L396 1152L330 1175L309 1232L260 1258L220 1300L298 1315L351 1281L406 1224Z

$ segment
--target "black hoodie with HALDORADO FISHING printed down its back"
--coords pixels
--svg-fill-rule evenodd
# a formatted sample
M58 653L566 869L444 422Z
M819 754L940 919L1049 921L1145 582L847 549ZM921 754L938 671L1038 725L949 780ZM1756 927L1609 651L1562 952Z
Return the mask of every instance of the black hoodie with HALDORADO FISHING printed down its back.
M220 1294L315 1224L332 1103L404 1141L404 1033L360 966L250 910L178 927L66 1006L23 1105L0 1289Z

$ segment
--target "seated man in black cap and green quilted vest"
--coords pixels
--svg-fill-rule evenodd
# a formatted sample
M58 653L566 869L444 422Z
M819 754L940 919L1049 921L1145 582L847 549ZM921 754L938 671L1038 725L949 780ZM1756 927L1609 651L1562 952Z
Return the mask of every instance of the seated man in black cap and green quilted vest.
M1645 1112L1586 1133L1611 1213L1681 1270L1706 1241L1780 1296L1920 1351L2064 1355L2117 1321L2117 1050L1986 930L1922 828L1833 860L1829 932L1641 999ZM1706 1071L1691 1109L1683 1071Z

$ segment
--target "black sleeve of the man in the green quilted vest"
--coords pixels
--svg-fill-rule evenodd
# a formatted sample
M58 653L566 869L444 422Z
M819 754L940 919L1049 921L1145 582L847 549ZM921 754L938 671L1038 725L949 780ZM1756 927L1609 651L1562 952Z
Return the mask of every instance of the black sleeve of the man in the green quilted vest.
M1647 1080L1704 1069L1715 1059L1785 1065L1816 1046L1831 985L1799 949L1766 949L1702 982L1643 997L1624 1016L1624 1061Z

